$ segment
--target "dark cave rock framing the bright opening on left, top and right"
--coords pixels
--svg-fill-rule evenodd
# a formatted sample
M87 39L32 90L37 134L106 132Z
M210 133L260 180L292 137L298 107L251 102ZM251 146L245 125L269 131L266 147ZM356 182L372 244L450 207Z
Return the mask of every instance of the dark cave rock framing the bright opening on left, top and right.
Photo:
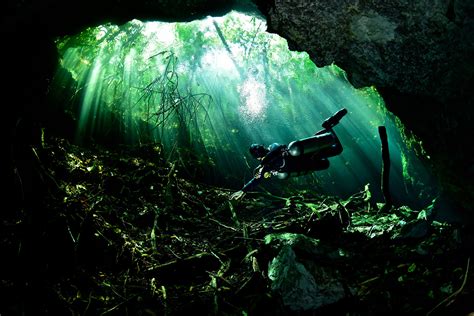
M48 83L56 69L57 36L104 22L131 19L187 21L221 15L245 1L232 0L46 0L2 4L3 90L8 174L24 144L39 142ZM448 191L469 208L474 201L472 106L474 2L275 0L253 1L267 17L268 31L291 49L306 51L316 65L343 68L355 87L376 86L387 108L416 134ZM247 5L248 6L248 5ZM31 157L30 157L31 158ZM31 188L33 190L33 188Z

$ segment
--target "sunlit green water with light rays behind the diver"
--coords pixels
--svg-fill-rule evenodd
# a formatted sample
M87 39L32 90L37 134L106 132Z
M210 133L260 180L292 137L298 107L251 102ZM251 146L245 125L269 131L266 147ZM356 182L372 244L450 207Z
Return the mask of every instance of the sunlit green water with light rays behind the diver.
M184 176L239 189L257 165L250 144L310 136L346 108L335 127L344 151L328 170L261 186L345 197L370 183L381 201L377 127L384 125L394 199L424 205L436 192L374 87L355 89L336 65L318 68L306 53L289 51L259 16L133 20L60 38L57 46L52 93L61 91L64 109L77 118L78 144L160 143Z

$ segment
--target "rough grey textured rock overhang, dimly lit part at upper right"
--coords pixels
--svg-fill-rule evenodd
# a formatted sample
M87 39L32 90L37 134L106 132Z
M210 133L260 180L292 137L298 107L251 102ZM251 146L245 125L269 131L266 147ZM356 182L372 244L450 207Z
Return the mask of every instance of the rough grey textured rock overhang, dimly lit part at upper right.
M470 0L287 0L266 15L271 31L319 67L336 63L355 87L444 102L470 88L473 12Z

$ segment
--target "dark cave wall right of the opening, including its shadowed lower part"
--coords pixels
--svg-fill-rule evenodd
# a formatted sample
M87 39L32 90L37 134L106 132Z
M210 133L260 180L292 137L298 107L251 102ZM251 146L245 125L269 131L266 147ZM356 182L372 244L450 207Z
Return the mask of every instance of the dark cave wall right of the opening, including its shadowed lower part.
M268 29L355 87L375 86L423 143L444 188L473 199L474 1L256 1Z

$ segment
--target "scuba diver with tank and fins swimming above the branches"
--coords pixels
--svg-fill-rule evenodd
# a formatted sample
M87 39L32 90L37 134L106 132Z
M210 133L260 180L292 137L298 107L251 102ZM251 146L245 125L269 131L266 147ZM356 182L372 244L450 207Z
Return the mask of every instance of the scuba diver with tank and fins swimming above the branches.
M262 179L272 175L278 179L287 179L329 168L328 158L342 152L341 142L333 127L346 114L346 109L339 110L323 122L322 130L288 145L273 143L267 148L252 144L249 148L250 154L259 160L260 164L254 170L254 177L242 189L233 193L230 199L240 199L246 192L257 187Z

